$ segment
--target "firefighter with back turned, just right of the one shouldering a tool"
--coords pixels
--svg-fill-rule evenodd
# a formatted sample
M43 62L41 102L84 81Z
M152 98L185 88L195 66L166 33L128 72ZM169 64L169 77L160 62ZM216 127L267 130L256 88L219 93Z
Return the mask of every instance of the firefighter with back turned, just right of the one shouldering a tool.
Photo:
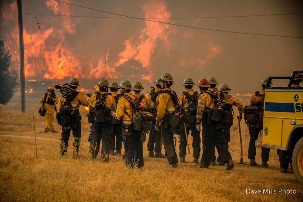
M90 143L89 150L91 157L95 159L99 153L100 141L102 140L101 159L108 162L109 152L112 142L112 125L108 124L112 118L108 116L112 111L116 111L115 98L108 93L108 81L102 79L99 82L99 91L96 91L88 102L88 108L94 110L94 121L92 122L92 133L88 137Z

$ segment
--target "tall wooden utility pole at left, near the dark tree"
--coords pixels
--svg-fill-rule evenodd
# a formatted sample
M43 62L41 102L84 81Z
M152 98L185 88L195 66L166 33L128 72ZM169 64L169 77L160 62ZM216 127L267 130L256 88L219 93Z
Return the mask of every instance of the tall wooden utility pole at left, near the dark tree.
M22 3L17 0L18 22L19 22L19 41L20 41L20 93L21 93L21 111L25 112L25 74L24 74L24 45L23 45L23 20Z

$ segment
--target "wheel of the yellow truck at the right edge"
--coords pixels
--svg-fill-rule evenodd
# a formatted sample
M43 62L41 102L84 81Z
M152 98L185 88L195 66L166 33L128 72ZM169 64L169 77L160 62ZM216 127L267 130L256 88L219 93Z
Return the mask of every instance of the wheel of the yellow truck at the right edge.
M303 184L303 137L297 142L294 149L293 168L298 182Z

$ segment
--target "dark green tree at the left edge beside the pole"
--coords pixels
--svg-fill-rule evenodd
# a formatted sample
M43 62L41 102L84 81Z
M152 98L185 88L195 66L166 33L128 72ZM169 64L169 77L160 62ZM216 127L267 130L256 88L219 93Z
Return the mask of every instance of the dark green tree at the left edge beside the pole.
M0 104L6 104L13 97L19 85L18 74L15 70L9 69L10 65L11 55L9 52L5 53L4 43L0 40Z

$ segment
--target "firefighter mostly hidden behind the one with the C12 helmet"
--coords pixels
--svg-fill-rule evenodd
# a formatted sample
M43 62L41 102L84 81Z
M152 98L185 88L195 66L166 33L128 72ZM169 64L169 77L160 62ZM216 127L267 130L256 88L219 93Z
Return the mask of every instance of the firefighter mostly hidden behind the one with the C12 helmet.
M155 103L155 107L152 110L152 113L154 114L154 118L157 116L158 111L158 105L159 105L159 95L162 93L161 85L160 85L161 78L157 78L154 82L156 84L156 88L151 87L148 92L148 99L153 101ZM147 150L148 150L148 157L155 157L155 158L166 158L162 153L162 136L161 131L155 130L155 123L156 119L153 121L153 126L151 128L151 131L149 132L148 136L148 142L147 142ZM155 145L155 147L154 147ZM155 154L154 154L155 149Z

